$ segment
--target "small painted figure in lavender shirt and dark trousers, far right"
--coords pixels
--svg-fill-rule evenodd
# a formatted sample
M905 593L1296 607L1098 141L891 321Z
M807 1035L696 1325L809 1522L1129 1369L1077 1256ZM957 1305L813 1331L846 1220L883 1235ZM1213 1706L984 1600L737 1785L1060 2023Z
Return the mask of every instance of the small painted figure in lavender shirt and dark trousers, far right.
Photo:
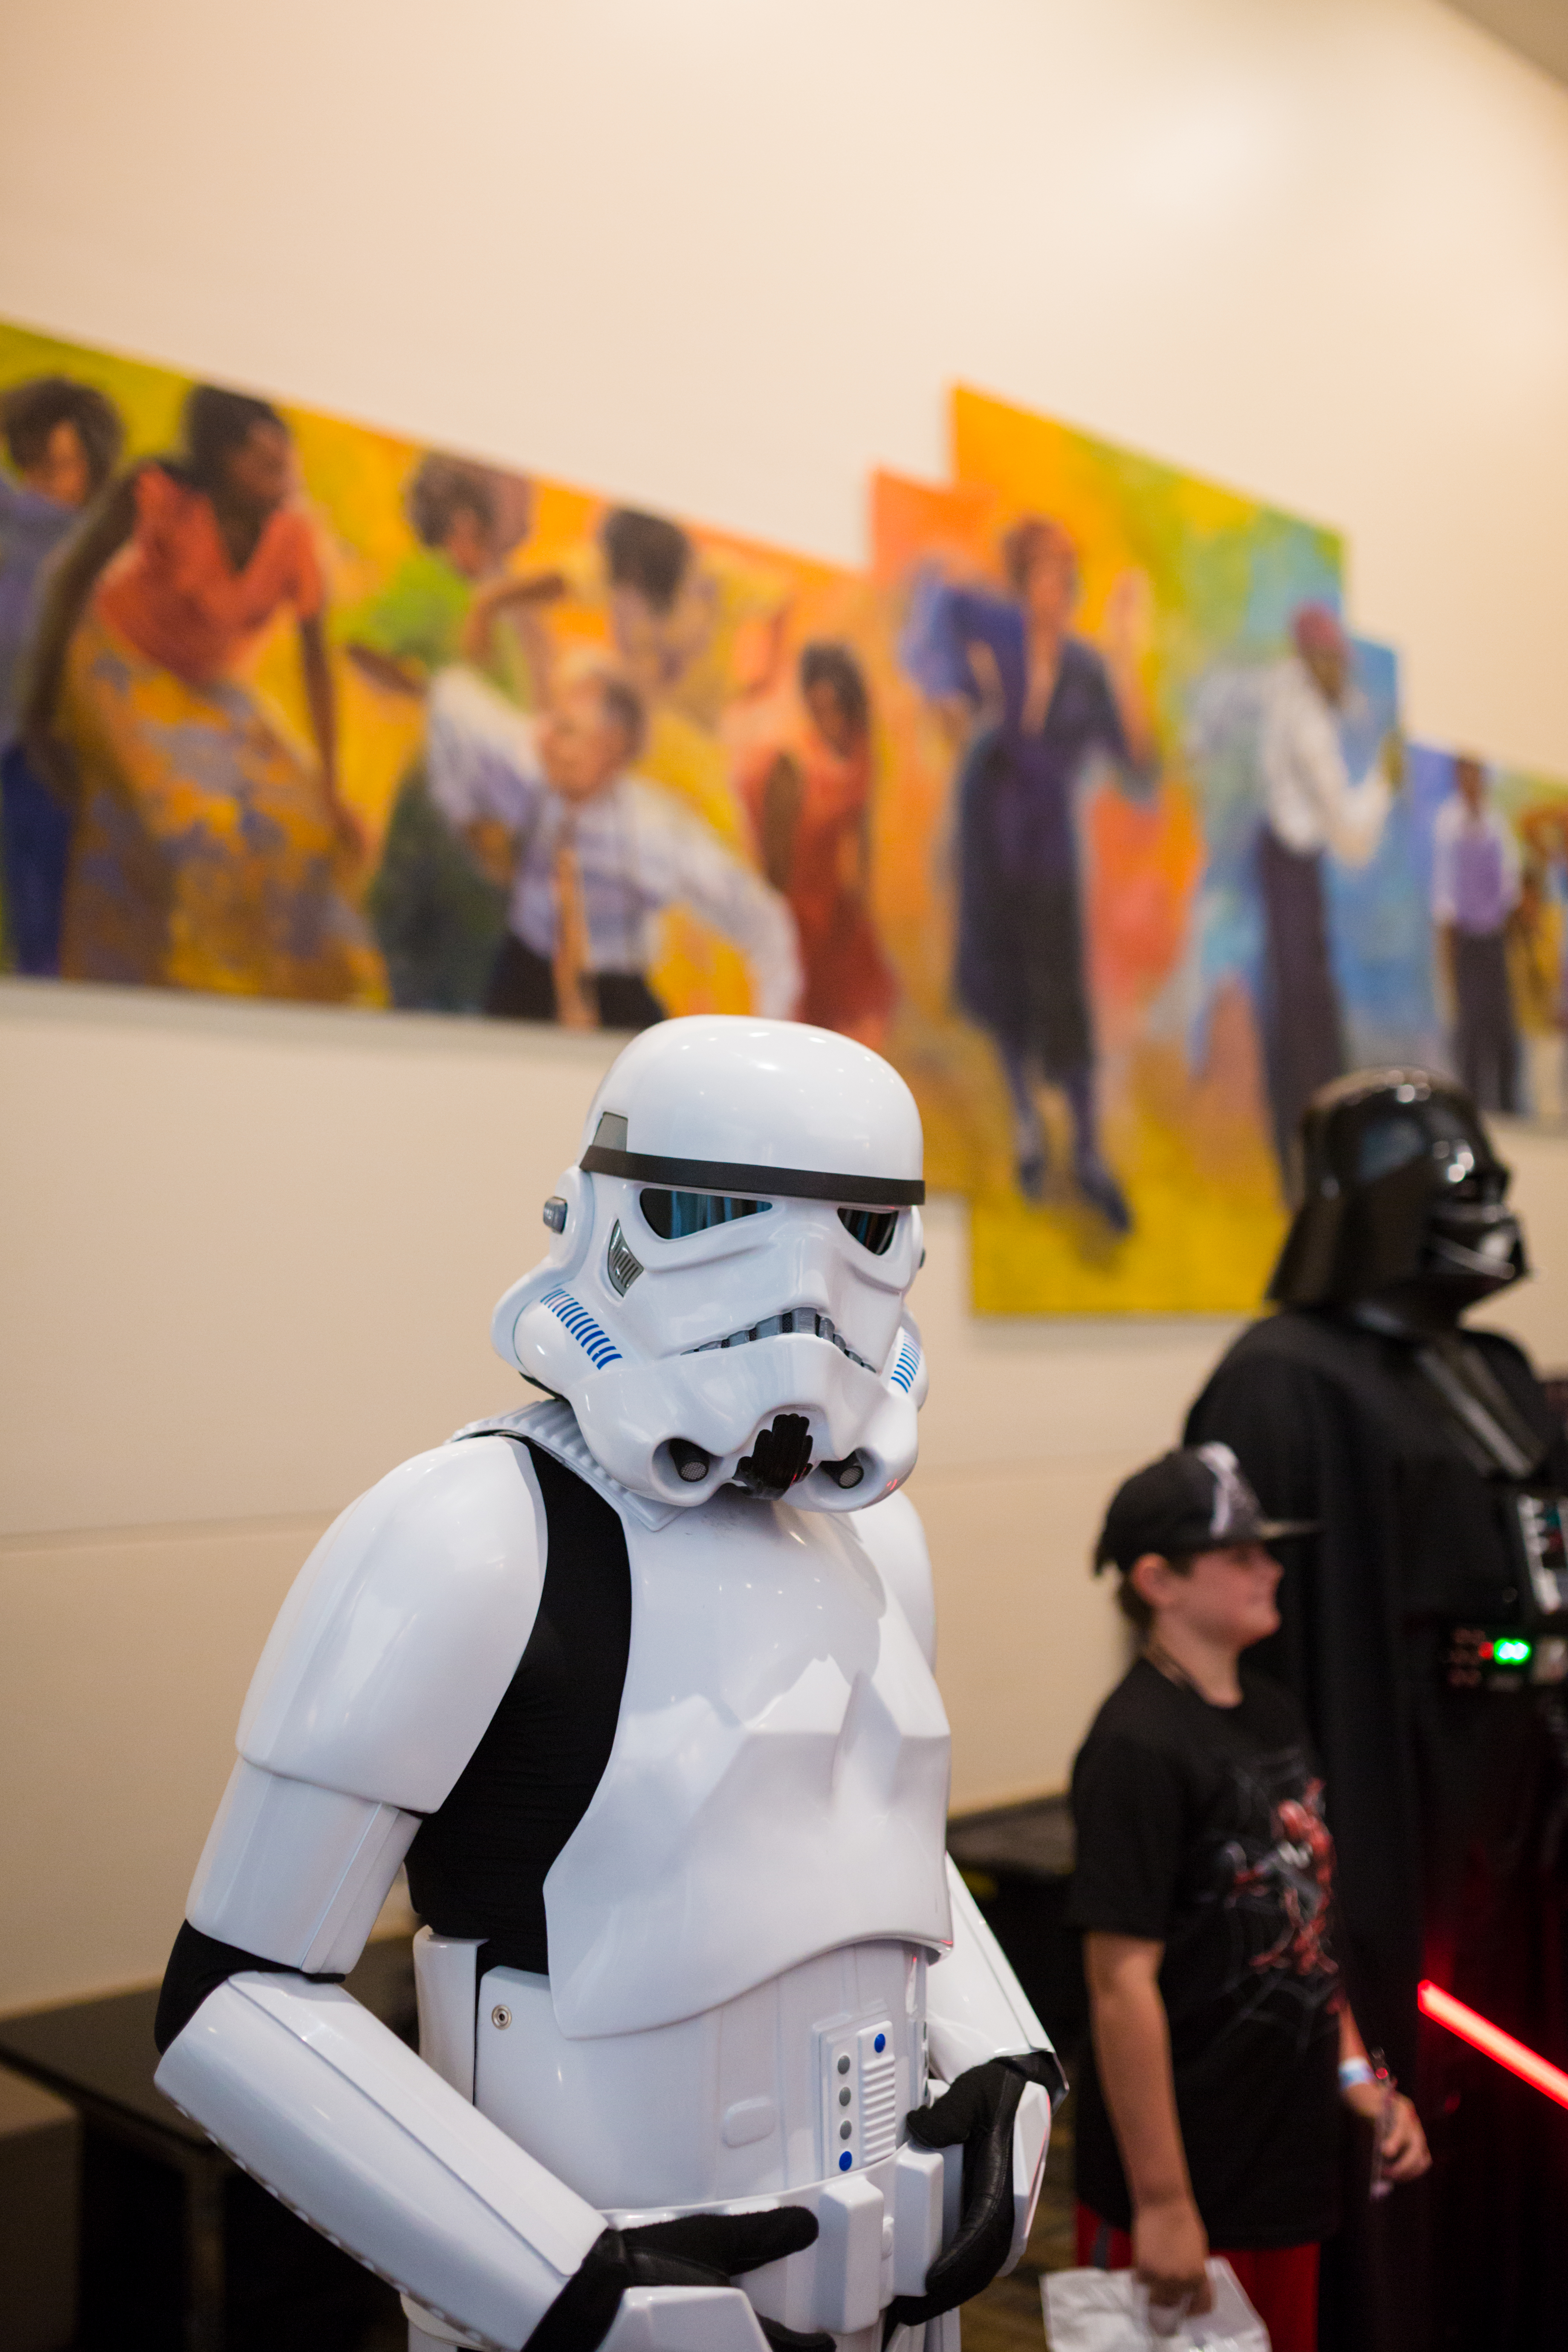
M1455 1070L1481 1110L1519 1110L1507 934L1521 887L1519 842L1488 800L1486 769L1462 755L1432 828L1432 922L1453 997Z

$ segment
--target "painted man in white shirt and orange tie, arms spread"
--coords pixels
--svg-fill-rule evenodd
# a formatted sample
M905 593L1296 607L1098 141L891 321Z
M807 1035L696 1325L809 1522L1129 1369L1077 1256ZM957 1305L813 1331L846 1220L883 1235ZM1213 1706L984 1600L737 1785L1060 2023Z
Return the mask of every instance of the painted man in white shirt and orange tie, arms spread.
M658 915L684 906L748 960L752 1011L799 997L795 917L670 793L632 771L642 696L592 663L531 720L473 670L430 689L430 793L510 884L508 938L484 1009L569 1028L649 1028Z

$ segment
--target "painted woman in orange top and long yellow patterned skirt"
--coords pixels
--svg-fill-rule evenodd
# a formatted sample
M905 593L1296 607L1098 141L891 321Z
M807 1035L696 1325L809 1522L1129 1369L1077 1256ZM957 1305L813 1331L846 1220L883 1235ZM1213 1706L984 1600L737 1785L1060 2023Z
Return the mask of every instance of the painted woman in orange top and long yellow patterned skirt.
M106 492L40 623L24 729L78 811L66 978L386 1002L346 896L364 844L336 786L324 602L282 416L197 386L183 452ZM315 757L244 677L282 614Z

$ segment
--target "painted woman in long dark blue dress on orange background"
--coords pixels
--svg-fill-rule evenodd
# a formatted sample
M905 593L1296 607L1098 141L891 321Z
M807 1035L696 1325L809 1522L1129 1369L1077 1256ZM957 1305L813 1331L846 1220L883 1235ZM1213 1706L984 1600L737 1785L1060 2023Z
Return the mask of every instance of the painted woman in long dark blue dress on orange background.
M1100 654L1070 633L1079 560L1067 532L1025 515L1001 553L1011 597L929 572L903 640L917 684L971 715L957 779L954 988L997 1044L1018 1190L1046 1195L1039 1087L1058 1087L1072 1115L1077 1190L1114 1232L1128 1232L1126 1195L1100 1152L1074 802L1095 757L1135 788L1154 776L1133 642L1147 590L1138 574L1119 581Z

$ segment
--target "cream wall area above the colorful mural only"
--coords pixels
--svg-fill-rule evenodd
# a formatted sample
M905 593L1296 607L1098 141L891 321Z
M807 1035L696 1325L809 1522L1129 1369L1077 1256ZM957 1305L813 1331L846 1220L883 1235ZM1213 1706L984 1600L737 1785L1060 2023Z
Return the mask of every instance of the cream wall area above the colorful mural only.
M952 379L1324 522L1568 769L1568 94L1436 0L9 9L0 313L844 560Z

